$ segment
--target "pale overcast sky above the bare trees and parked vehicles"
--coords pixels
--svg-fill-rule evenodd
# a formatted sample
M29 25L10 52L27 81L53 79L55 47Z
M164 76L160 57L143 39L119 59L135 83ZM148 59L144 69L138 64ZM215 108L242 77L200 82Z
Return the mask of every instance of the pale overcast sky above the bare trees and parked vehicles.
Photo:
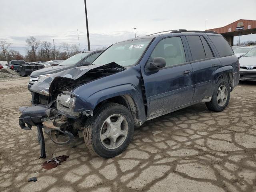
M239 19L256 20L256 0L87 0L91 48L109 46L136 35L172 30L218 28ZM60 46L87 46L84 0L0 0L0 40L24 54L25 40L35 36ZM252 8L252 10L248 10ZM236 42L237 38L234 39ZM256 35L242 36L256 40Z

